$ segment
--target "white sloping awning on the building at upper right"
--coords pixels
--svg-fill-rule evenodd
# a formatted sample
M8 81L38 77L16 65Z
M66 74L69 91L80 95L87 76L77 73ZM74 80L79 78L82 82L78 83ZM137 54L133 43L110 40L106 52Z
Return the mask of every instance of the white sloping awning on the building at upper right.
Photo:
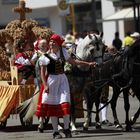
M137 12L136 12L137 16ZM115 14L104 18L104 21L114 21L114 20L126 20L134 18L133 8L124 8L116 12Z

